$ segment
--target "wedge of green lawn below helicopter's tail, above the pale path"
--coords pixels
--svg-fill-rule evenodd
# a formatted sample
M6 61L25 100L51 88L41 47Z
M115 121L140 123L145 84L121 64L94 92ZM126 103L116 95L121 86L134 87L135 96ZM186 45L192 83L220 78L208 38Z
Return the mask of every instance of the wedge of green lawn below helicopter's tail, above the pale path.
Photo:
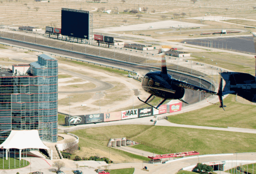
M216 105L207 106L195 111L168 116L168 121L177 124L256 128L256 106L236 102L235 95L224 99L225 111Z

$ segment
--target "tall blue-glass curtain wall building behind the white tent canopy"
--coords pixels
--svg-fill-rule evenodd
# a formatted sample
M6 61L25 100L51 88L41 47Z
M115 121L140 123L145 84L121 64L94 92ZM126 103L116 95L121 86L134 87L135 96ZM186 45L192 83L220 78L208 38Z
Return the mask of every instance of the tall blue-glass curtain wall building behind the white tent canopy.
M42 141L57 142L58 60L0 68L0 143L11 130L37 129Z

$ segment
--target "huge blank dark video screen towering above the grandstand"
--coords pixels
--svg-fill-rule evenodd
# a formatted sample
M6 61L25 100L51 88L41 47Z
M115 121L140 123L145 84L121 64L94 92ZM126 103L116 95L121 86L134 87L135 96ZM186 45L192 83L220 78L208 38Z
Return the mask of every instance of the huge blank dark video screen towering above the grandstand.
M61 34L89 39L89 11L62 8Z

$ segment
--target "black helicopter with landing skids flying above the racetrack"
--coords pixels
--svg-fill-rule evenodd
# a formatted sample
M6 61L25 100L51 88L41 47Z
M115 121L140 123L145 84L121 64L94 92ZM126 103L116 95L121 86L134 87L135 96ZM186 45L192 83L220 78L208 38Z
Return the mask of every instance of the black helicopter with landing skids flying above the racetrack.
M226 106L223 106L223 100L222 100L222 96L223 96L222 78L220 80L218 93L189 84L187 82L183 82L181 80L176 80L170 74L167 73L166 60L164 56L162 56L161 71L148 72L143 77L141 82L142 82L143 90L151 94L146 101L143 101L138 97L138 99L141 102L146 103L149 106L152 106L149 103L147 103L147 101L150 100L150 98L153 95L164 99L162 100L161 103L159 103L158 106L156 107L152 106L153 108L156 108L156 109L158 109L158 107L161 106L161 104L163 104L166 100L178 99L184 103L187 103L181 99L184 96L185 89L191 89L195 91L202 91L205 93L218 95L219 101L220 101L219 107L223 109L224 107L226 107Z

